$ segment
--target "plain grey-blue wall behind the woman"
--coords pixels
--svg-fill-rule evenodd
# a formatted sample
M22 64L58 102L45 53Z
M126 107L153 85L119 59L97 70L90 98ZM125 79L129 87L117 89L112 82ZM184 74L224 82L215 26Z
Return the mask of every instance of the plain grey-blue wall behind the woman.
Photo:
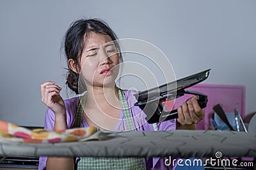
M56 81L63 98L60 44L81 17L106 20L119 38L153 43L176 77L212 68L204 83L246 86L246 114L255 108L256 1L0 1L0 120L44 125L40 84Z

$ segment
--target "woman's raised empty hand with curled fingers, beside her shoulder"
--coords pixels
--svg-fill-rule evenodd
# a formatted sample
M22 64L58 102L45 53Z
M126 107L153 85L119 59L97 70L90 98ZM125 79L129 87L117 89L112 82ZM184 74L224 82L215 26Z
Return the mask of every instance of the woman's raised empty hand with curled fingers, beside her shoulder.
M42 102L54 112L55 116L66 116L66 107L60 96L61 88L55 82L41 84Z

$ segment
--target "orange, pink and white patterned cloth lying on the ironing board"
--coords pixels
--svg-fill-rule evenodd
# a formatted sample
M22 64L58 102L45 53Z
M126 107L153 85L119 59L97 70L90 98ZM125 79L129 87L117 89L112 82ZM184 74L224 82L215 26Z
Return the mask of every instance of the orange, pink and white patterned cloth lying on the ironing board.
M0 121L0 139L19 143L68 143L86 141L92 137L99 128L72 128L67 130L45 130L19 127L12 123Z

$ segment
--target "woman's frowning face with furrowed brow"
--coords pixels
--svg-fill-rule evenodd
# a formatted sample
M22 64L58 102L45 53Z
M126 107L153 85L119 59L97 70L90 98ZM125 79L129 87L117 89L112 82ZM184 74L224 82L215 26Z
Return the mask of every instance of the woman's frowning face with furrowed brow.
M80 61L86 87L113 86L119 72L119 55L109 35L90 33Z

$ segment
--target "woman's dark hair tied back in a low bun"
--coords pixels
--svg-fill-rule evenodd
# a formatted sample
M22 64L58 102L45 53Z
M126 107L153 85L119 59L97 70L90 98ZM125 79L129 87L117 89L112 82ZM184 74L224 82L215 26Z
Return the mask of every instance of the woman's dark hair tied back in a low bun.
M65 48L65 54L68 59L74 59L77 71L80 70L79 63L81 61L81 55L83 54L86 38L91 32L99 33L102 35L109 35L113 41L117 40L117 36L114 31L108 26L108 24L100 19L79 19L73 22L67 30L63 40L63 46ZM119 52L120 63L123 62L122 54L120 52L120 46L115 41L116 49ZM85 84L78 84L79 73L73 72L68 68L66 84L68 88L72 89L76 94L79 94L78 86L83 86L86 89Z

